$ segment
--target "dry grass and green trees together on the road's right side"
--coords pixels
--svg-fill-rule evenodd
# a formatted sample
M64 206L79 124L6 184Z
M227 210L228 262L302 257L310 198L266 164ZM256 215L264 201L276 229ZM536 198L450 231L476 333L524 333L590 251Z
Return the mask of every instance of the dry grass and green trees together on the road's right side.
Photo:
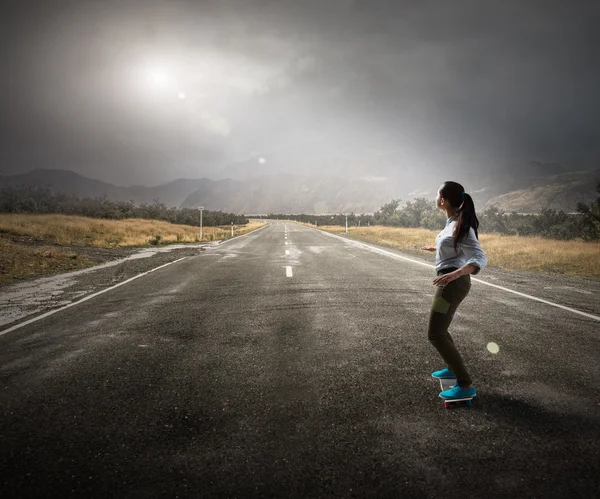
M600 183L596 191L600 194ZM348 215L348 236L435 260L433 254L419 248L435 245L446 215L423 198L402 209L399 204L400 200L393 200L372 215ZM329 232L346 232L346 215L271 216ZM600 279L600 196L590 205L579 203L575 214L544 210L522 215L490 208L477 216L479 241L489 265Z

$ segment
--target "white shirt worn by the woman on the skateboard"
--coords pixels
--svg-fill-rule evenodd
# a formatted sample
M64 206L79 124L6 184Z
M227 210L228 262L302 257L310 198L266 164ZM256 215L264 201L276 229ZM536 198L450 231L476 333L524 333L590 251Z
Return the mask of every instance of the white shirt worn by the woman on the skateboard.
M452 232L456 225L456 215L446 220L446 227L435 238L435 270L436 272L448 267L461 268L469 264L479 267L473 275L487 265L487 257L475 237L475 230L469 227L467 236L458 243L458 251L454 250Z

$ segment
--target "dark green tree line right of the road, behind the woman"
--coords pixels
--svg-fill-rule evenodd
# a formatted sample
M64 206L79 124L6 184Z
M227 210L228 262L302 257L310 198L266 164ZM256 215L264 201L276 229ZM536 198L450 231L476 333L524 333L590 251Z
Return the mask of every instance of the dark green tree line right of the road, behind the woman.
M600 194L600 182L596 186ZM446 215L435 207L435 203L425 198L416 198L399 209L401 200L393 199L379 210L369 215L351 213L337 215L286 215L270 214L269 218L291 219L316 225L340 225L366 227L385 225L391 227L421 227L441 230L446 223ZM565 213L544 209L535 215L516 212L507 213L490 207L477 213L479 231L516 236L542 236L551 239L584 241L600 240L600 196L592 203L577 203L577 213Z

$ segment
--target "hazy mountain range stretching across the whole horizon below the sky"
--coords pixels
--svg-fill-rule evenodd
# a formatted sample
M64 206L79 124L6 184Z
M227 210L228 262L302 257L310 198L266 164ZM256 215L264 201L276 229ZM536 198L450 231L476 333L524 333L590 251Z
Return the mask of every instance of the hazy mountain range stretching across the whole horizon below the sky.
M453 176L446 172L444 178L439 175L432 178L431 174L420 174L416 169L408 174L403 170L403 176L393 175L389 165L374 168L370 176L355 178L268 174L269 169L258 165L253 161L238 164L243 178L177 179L154 187L118 187L66 170L34 170L0 176L0 187L47 186L78 197L107 196L114 201L135 203L158 200L167 206L204 206L208 210L233 213L370 213L393 198L403 200L400 206L416 197L433 202L446 174L449 178ZM462 172L459 177L468 180L465 186L469 186L467 192L473 196L477 211L496 206L507 212L536 213L547 207L574 212L577 202L596 199L600 169L564 172L560 165L531 162L487 174L476 170Z

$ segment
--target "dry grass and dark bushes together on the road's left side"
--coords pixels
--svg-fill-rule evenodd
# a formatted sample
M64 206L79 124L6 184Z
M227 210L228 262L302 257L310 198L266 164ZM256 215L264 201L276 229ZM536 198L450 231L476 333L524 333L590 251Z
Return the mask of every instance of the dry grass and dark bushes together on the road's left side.
M257 229L244 216L202 213L202 242ZM86 268L85 248L124 248L200 242L200 212L152 204L77 198L45 187L0 188L0 286ZM115 253L116 254L116 253ZM86 256L87 255L87 256Z

